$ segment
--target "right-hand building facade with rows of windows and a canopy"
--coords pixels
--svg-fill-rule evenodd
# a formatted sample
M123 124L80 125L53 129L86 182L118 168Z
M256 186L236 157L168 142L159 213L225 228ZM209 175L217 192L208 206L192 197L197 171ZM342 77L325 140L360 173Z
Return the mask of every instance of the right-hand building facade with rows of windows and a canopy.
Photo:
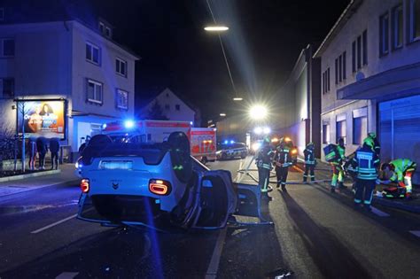
M382 161L419 162L419 53L419 0L352 1L315 53L323 145L343 137L348 155L376 132Z

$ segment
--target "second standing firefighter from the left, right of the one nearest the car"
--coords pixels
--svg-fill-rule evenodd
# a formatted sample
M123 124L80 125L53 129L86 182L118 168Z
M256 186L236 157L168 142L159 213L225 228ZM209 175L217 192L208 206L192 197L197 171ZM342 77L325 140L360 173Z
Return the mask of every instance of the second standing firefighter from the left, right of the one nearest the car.
M292 153L283 138L280 140L280 144L276 148L274 163L276 165L277 188L282 185L282 190L285 191L287 174L289 173L289 167L292 166Z

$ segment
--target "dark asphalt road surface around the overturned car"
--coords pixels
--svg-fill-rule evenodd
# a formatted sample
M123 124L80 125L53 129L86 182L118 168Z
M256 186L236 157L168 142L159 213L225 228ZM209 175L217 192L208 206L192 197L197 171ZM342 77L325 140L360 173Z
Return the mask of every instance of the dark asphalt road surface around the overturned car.
M209 167L237 177L246 165L237 159ZM300 181L299 171L289 180ZM276 269L295 278L420 277L418 215L379 206L356 211L319 185L273 190L263 206L273 227L188 235L76 220L79 195L64 184L0 198L0 278L264 278Z

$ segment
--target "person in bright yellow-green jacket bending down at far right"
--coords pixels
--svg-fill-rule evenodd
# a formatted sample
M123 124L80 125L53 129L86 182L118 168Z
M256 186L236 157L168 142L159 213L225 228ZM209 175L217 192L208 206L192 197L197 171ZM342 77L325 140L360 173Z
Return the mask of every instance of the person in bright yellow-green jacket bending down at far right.
M417 164L410 159L394 159L382 165L381 170L390 174L389 180L383 183L398 182L398 187L405 190L405 197L410 198L412 192L411 179L416 172Z

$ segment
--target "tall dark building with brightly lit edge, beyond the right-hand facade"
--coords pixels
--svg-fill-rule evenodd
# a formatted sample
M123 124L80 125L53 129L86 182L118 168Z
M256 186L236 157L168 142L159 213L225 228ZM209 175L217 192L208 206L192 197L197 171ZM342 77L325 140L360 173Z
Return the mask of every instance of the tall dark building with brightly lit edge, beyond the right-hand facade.
M292 74L277 97L275 130L282 136L290 136L299 154L307 143L315 144L315 156L321 156L321 61L313 58L312 46L300 52ZM326 74L323 74L323 76Z

